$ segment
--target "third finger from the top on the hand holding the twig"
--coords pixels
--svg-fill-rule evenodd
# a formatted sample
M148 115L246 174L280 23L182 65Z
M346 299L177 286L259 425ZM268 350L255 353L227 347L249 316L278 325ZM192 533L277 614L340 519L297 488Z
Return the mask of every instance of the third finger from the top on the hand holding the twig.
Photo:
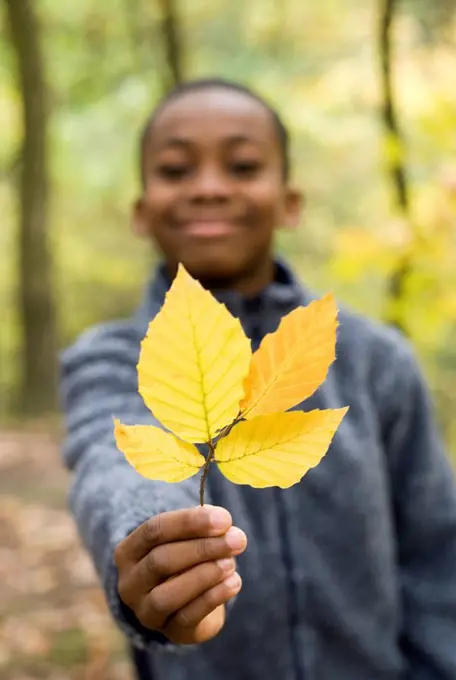
M139 620L147 628L163 628L172 614L223 581L233 568L232 560L206 562L168 579L142 598L137 612Z

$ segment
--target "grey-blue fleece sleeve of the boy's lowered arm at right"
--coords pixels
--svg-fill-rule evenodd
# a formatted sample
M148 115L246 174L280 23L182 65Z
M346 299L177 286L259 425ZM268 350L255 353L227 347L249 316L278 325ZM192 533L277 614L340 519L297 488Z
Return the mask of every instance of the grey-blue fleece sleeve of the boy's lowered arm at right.
M406 680L456 680L456 484L408 345L389 352L383 403L402 591ZM384 364L385 367L385 364Z

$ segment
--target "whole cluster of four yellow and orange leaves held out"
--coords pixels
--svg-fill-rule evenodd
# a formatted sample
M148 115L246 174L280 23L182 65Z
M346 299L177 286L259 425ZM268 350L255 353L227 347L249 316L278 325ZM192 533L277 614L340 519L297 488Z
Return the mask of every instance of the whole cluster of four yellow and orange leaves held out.
M191 477L206 464L194 444L208 443L232 482L295 484L325 455L347 411L283 412L326 378L336 326L325 296L284 317L252 356L239 321L180 266L138 363L139 392L169 432L116 420L118 448L150 479Z

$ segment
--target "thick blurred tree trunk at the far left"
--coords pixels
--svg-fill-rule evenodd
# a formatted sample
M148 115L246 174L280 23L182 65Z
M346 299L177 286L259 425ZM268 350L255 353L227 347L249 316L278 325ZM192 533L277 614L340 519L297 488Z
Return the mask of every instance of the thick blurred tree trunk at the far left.
M19 203L19 294L22 330L18 408L26 414L56 406L56 321L47 233L48 94L33 0L5 0L22 97L23 144Z

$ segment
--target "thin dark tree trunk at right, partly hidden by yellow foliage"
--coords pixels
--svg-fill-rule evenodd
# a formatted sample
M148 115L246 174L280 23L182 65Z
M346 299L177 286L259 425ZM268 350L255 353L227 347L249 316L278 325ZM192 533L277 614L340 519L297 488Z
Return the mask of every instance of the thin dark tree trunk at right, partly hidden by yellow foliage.
M394 90L392 83L392 33L396 11L396 0L380 0L379 15L379 54L382 89L381 118L385 132L385 147L391 149L387 157L388 181L393 192L396 208L404 219L410 223L410 193L407 173L404 164L404 140L401 134ZM405 331L397 303L403 297L407 276L411 269L409 255L401 258L397 269L390 277L388 284L387 321Z

